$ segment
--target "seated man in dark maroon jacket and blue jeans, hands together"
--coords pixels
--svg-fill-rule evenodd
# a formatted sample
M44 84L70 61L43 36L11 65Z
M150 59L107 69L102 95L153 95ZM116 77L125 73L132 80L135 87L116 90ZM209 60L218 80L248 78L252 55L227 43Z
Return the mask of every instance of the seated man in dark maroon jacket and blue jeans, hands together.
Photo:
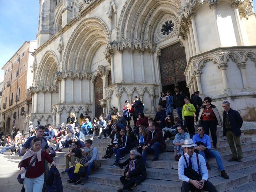
M163 153L166 149L165 140L163 139L162 131L156 127L155 123L150 123L150 132L148 132L147 139L142 148L142 158L143 162L146 162L147 154L154 154L152 161L158 160L158 154Z

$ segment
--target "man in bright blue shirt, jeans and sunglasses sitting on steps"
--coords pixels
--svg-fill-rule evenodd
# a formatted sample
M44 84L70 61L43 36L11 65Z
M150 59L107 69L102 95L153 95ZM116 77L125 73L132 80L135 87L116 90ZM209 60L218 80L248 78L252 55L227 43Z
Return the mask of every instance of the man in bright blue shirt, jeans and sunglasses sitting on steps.
M208 156L208 158L216 159L219 169L221 170L221 177L223 177L225 179L229 179L229 176L225 172L225 169L224 169L224 166L222 163L222 159L221 159L221 155L219 155L218 151L211 150L211 139L208 135L204 134L203 127L197 128L197 134L195 134L193 136L192 140L195 144L197 144L195 149L198 150L198 153L204 157L207 169L211 170L211 167L208 164L206 155Z

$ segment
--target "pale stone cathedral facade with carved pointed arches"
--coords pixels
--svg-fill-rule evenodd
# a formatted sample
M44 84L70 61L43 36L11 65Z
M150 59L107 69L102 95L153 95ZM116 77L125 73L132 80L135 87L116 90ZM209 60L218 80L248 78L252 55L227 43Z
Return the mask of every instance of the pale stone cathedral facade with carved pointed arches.
M256 120L255 34L250 0L39 0L26 122L122 111L135 96L153 115L176 85Z

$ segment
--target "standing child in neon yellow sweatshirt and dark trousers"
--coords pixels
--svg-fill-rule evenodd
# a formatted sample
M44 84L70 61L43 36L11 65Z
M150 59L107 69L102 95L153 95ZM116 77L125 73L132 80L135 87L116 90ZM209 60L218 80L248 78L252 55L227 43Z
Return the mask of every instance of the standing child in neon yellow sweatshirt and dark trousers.
M187 123L188 132L190 137L195 135L195 127L194 127L194 112L196 112L193 104L189 103L189 98L184 99L185 105L182 108L182 119ZM184 122L183 122L184 123Z

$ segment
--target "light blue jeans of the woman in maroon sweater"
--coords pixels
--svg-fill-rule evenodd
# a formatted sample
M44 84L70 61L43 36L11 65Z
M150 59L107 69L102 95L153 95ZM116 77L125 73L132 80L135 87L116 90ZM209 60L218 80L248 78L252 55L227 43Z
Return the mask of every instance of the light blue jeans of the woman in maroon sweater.
M26 192L42 191L44 185L44 174L37 178L25 177L23 183Z

